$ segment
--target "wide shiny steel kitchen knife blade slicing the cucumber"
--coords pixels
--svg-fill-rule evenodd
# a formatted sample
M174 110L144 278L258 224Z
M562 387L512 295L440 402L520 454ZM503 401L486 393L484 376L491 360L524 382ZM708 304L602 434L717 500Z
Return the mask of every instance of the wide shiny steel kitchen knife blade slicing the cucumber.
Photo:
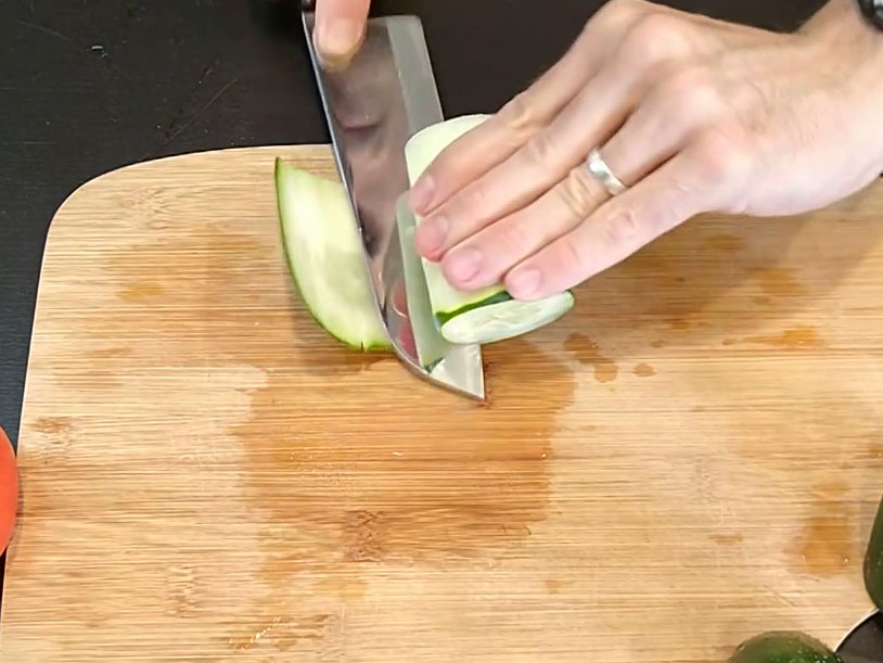
M435 323L405 199L405 144L444 119L422 24L417 16L372 17L353 60L331 67L313 46L313 4L302 5L304 33L337 171L361 233L373 303L406 367L484 400L481 346L448 343Z

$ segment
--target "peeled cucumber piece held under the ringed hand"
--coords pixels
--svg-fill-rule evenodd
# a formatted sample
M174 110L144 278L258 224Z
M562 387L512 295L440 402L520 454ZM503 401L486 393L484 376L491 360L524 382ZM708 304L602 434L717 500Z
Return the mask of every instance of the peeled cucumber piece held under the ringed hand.
M462 115L412 136L405 146L411 184L445 148L488 117ZM418 217L417 222L421 221ZM515 299L502 284L460 291L450 285L437 263L423 258L422 264L436 323L450 343L488 344L520 336L554 322L574 306L570 291L536 301Z

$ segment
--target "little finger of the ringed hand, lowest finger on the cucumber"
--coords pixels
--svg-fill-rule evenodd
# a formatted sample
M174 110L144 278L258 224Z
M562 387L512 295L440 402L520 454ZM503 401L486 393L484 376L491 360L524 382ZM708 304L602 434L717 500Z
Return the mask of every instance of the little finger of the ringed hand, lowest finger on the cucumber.
M515 298L550 296L585 281L705 212L714 189L698 148L680 152L583 224L523 260L504 279Z

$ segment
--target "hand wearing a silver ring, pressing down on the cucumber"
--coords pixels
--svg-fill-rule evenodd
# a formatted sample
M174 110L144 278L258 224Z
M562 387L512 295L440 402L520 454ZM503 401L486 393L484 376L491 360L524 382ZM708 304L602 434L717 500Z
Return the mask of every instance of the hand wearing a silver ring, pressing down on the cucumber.
M450 283L574 286L704 212L788 215L883 170L883 35L832 0L793 35L612 0L527 91L411 191ZM585 166L600 146L630 187Z

